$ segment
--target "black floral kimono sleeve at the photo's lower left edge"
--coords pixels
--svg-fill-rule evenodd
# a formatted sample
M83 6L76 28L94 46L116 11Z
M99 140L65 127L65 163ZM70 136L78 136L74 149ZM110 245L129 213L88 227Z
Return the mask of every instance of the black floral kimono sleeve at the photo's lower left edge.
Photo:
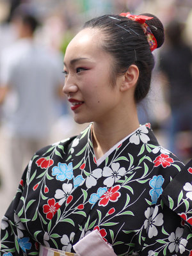
M30 163L22 175L17 194L1 221L0 255L2 256L38 255L38 243L26 230L24 225L26 220L19 218L20 212L24 211Z

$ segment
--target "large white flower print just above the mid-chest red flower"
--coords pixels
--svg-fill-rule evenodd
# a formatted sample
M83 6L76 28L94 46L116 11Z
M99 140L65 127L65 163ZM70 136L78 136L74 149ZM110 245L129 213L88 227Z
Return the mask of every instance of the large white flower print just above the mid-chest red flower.
M112 169L111 169L112 168ZM124 167L120 168L120 164L119 163L112 163L111 164L111 168L109 168L108 166L104 167L103 172L102 172L102 176L103 177L108 177L107 179L104 180L103 184L111 187L113 186L113 184L120 179L120 177L122 177L123 175L125 175L126 170Z

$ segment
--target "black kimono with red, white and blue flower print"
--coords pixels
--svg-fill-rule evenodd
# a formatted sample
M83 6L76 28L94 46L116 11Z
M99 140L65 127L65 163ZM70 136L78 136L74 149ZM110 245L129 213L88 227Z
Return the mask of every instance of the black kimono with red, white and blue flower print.
M1 222L1 255L74 252L98 230L119 256L191 256L191 178L192 162L161 147L150 124L97 161L90 124L33 156Z

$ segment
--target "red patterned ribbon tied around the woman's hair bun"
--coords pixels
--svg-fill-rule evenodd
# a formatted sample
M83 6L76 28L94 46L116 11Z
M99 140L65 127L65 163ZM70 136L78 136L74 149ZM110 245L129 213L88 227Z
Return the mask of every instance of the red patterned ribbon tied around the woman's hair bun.
M145 15L131 15L131 13L129 12L122 12L120 13L120 16L127 17L128 19L139 22L141 24L141 27L143 28L145 36L147 37L147 41L150 46L150 51L154 51L157 48L157 40L153 35L152 31L150 30L149 26L147 25L147 23L145 22L146 20L154 19L154 17L148 17Z

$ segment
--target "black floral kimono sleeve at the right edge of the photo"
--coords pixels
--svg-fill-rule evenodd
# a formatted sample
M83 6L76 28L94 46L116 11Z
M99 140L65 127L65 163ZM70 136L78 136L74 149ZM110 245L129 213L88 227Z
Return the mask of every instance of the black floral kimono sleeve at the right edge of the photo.
M192 255L192 161L166 186L158 204L145 211L141 255Z

